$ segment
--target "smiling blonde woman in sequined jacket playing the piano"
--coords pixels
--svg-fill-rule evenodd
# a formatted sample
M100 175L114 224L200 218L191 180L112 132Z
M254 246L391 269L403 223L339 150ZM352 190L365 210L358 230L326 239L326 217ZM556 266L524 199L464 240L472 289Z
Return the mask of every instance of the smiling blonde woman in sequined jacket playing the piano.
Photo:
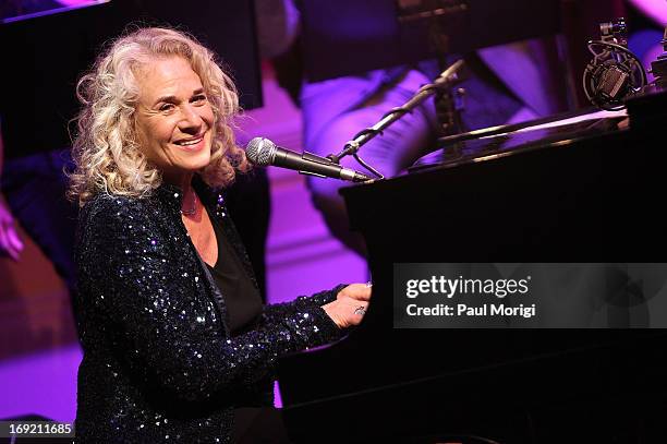
M271 405L276 358L339 338L371 290L262 307L211 191L247 169L230 128L238 97L198 43L163 28L121 37L78 95L77 439L229 442L247 422L238 408Z

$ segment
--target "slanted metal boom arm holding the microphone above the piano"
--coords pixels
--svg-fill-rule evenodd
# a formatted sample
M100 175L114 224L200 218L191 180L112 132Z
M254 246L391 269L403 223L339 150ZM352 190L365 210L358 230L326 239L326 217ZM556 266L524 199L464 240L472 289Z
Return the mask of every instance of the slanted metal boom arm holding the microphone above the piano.
M359 133L356 133L356 135L354 135L351 141L345 143L343 149L340 153L330 154L327 156L327 158L335 164L340 164L340 159L345 156L352 155L356 159L356 161L359 161L368 171L373 172L378 179L384 179L385 177L379 171L366 164L359 156L359 148L361 148L364 144L374 139L376 135L381 134L383 131L391 123L396 122L404 115L412 112L414 108L416 108L422 101L426 100L428 97L437 93L448 91L451 86L463 80L463 60L457 60L449 68L442 71L433 83L428 83L422 86L414 94L414 96L410 98L410 100L408 100L400 107L390 109L373 127L365 128Z

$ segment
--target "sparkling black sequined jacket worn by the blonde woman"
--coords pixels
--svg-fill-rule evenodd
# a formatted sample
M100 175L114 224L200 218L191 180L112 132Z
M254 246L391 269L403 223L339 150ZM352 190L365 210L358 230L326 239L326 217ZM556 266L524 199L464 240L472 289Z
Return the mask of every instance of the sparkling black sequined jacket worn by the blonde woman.
M222 196L196 188L250 269ZM180 208L180 189L162 185L98 194L81 211L77 442L230 442L234 407L271 405L278 356L341 335L320 308L337 287L267 305L259 327L231 337Z

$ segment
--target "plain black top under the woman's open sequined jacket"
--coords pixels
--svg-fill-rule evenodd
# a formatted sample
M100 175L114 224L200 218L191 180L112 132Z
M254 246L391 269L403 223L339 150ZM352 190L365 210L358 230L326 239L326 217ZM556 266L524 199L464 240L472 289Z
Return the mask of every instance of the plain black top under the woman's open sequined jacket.
M222 227L215 218L209 218L218 242L218 261L215 266L206 265L225 298L227 325L233 337L257 325L262 315L262 297L222 232Z

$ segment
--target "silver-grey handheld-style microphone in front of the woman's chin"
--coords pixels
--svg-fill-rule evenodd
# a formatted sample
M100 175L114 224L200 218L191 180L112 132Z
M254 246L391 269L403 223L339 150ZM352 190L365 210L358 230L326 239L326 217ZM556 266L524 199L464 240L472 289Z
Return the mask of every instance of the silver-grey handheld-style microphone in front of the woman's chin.
M333 178L349 180L351 182L365 182L373 180L368 176L343 168L332 163L326 157L319 157L311 153L294 153L292 151L276 146L268 139L255 137L245 147L245 157L253 164L260 167L274 165L293 169L302 175L317 176L320 178Z

